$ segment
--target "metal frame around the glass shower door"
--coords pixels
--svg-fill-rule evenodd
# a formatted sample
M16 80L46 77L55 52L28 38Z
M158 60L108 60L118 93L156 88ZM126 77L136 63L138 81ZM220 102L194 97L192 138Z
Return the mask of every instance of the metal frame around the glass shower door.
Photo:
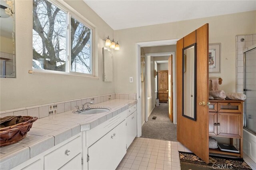
M244 94L246 95L246 53L252 51L252 50L256 50L256 45L252 45L246 49L243 50L244 53ZM256 132L253 131L252 129L249 129L248 127L246 127L246 100L244 101L244 129L246 129L247 131L249 131L250 133L252 133L253 135L256 135Z

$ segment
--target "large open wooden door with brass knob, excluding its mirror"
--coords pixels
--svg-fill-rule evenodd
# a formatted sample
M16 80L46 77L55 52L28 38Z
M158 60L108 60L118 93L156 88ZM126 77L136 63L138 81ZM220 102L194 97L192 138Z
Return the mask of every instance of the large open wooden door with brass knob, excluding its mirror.
M208 23L177 41L177 139L206 163L209 163L209 113L208 102ZM188 28L189 29L189 28ZM182 49L196 43L196 121L182 116Z

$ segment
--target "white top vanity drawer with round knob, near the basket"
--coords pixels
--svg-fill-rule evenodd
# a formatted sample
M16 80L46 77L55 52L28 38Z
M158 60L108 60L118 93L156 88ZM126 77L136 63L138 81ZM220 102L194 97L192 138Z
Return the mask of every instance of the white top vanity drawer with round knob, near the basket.
M44 168L46 170L59 169L80 152L82 152L81 136L44 156Z

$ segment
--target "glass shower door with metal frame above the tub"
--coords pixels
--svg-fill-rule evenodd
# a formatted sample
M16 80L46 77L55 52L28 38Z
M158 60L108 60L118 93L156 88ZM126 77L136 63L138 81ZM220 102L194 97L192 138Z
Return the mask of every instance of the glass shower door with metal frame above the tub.
M256 135L256 45L244 50L244 128Z

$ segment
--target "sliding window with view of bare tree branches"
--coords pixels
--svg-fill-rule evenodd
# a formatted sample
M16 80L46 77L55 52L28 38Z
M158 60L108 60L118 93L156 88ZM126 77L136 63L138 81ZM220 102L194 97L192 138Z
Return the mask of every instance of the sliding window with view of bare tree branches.
M48 0L33 0L33 68L92 74L92 29Z

